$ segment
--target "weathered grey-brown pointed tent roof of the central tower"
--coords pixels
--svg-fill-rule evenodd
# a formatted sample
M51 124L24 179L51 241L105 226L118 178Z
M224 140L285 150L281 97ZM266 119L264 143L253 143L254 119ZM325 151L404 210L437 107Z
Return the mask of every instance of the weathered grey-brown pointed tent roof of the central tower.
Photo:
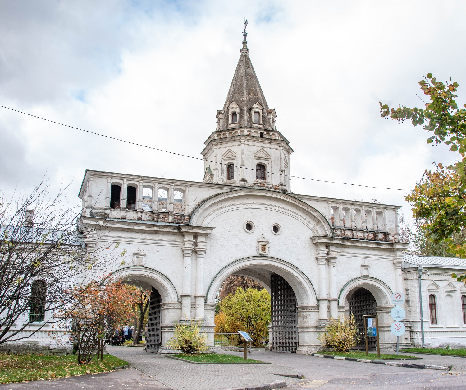
M223 111L225 115L220 120L219 130L226 130L232 126L228 126L228 107L232 102L240 107L240 119L237 126L251 126L250 110L254 104L259 103L262 107L262 123L264 129L272 130L272 124L267 116L268 109L264 93L260 88L259 80L257 79L256 72L254 71L253 64L249 58L249 49L247 49L246 34L244 36L243 48L241 49L240 60L236 65L233 81L230 85L230 90L226 96Z

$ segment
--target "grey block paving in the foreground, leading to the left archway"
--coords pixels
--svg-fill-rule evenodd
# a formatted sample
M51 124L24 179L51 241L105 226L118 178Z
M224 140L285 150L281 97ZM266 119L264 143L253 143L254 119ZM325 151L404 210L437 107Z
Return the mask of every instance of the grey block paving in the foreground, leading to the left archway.
M126 360L144 374L173 390L221 390L286 381L298 372L279 364L191 364L141 348L110 347L112 355Z

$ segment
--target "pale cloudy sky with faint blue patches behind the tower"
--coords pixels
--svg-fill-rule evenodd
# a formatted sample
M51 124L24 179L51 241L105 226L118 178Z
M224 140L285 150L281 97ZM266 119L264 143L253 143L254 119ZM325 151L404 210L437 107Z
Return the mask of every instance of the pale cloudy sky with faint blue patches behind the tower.
M422 106L432 72L466 97L464 1L0 0L0 105L200 157L248 47L291 174L412 188L452 162L428 134L379 116L378 102ZM461 103L463 104L463 103ZM203 163L130 146L0 108L0 188L28 191L46 174L84 170L202 181ZM292 179L295 193L388 204L390 191Z

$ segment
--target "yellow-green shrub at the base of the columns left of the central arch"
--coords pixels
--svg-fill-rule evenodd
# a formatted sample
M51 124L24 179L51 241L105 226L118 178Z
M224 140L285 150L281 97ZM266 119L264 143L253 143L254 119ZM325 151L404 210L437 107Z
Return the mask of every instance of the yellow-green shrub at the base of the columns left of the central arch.
M184 354L196 354L209 349L206 344L207 335L199 333L200 323L191 320L190 323L177 322L175 335L168 340L167 345L179 349Z

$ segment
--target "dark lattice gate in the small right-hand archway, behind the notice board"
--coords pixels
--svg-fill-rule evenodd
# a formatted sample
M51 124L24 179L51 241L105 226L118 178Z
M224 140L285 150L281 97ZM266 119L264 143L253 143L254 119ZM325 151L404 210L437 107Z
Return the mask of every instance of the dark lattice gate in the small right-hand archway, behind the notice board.
M354 318L357 323L357 329L359 334L359 343L356 348L366 348L366 342L364 338L364 315L376 314L376 300L370 291L365 288L358 288L351 299L349 299L349 314L354 314ZM367 339L369 348L376 348L377 341L375 338Z

